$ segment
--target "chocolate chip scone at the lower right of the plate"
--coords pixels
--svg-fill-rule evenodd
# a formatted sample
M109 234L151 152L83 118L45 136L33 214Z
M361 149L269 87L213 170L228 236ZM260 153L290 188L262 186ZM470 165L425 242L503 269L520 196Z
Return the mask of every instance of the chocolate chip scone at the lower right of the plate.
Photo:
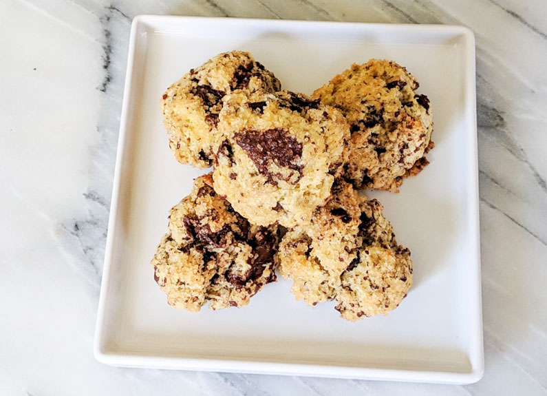
M308 305L336 300L346 320L395 309L412 284L409 249L397 244L377 200L337 183L308 227L288 232L277 253L281 275Z

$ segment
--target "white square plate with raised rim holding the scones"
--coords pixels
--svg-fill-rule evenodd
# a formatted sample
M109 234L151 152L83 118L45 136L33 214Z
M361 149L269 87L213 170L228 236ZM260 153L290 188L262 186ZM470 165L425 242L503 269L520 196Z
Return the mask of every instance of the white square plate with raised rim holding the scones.
M311 309L290 282L243 309L167 305L149 264L171 206L203 170L178 164L160 96L220 52L250 51L288 90L310 94L351 63L392 59L431 99L436 148L385 206L414 260L387 317L350 323ZM119 366L470 383L482 376L473 33L459 26L141 16L133 21L95 355Z

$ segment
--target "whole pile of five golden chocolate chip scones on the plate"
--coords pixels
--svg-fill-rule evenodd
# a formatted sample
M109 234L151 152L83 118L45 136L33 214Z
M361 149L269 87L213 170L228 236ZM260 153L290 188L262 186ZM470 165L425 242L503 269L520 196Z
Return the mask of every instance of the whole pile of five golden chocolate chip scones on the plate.
M213 166L171 209L151 262L172 306L241 307L276 269L346 320L387 314L412 283L409 249L377 200L427 165L433 123L392 61L352 65L312 96L281 90L247 52L219 54L162 96L175 158Z

